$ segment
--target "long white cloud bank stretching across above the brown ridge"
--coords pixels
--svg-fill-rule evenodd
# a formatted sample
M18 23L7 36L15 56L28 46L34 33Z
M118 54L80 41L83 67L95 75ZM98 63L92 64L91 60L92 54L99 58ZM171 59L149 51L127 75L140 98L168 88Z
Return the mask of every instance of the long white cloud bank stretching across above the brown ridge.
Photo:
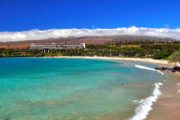
M67 38L83 36L112 36L112 35L143 35L173 38L180 40L180 29L170 28L145 28L129 27L114 29L50 29L50 30L30 30L23 32L0 32L0 41L23 41L42 40L48 38Z

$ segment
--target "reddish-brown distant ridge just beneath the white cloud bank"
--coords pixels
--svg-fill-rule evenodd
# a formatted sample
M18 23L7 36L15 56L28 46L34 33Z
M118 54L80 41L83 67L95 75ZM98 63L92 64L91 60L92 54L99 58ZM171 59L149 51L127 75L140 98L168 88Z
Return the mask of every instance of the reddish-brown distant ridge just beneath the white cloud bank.
M133 42L133 41L155 41L155 42L173 42L177 41L171 38L151 37L151 36L135 36L135 35L115 35L115 36L88 36L88 37L68 37L68 38L50 38L42 40L27 40L15 42L0 42L0 48L6 49L24 49L28 48L31 43L58 43L58 44L95 44L103 45L114 42Z

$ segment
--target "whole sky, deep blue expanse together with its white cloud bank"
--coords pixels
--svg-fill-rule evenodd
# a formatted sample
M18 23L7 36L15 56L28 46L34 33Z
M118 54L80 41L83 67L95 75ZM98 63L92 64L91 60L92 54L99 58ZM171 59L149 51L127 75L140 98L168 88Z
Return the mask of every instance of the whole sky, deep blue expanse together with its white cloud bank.
M0 42L92 35L180 40L180 0L0 0Z

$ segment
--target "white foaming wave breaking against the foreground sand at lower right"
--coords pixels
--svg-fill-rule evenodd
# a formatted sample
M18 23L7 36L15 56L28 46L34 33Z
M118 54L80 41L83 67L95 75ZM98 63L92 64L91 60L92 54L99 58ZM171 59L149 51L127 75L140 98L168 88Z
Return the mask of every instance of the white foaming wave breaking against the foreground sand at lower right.
M152 105L157 101L158 97L161 95L160 86L162 83L155 83L155 88L153 90L152 96L139 101L139 106L136 108L135 116L129 120L144 120L146 119L149 112L153 109Z

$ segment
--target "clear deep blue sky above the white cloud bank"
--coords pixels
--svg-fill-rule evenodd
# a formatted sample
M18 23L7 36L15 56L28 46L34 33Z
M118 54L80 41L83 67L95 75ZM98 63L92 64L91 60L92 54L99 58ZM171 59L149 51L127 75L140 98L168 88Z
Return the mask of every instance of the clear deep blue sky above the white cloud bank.
M0 0L0 31L178 28L179 0Z

